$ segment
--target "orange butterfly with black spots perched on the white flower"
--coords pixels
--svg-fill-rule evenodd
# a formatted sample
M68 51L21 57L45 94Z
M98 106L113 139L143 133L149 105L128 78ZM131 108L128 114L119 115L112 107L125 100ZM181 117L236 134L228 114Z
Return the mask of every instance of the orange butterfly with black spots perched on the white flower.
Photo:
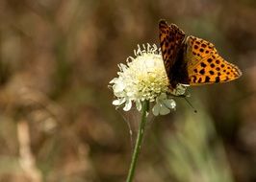
M240 69L218 55L214 44L186 34L175 24L160 20L160 46L169 87L203 85L236 80Z

